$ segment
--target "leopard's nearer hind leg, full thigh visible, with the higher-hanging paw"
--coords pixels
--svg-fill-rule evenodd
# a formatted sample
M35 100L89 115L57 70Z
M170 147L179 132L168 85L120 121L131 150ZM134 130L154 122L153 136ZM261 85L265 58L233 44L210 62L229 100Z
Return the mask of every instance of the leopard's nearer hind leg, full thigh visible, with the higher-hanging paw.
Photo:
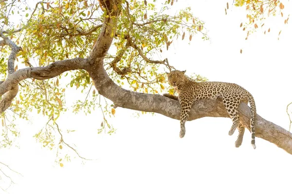
M227 110L227 113L229 114L229 116L233 122L228 134L233 135L235 129L237 129L237 127L239 125L239 115L237 113L237 107L238 107L239 103L229 99L228 97L222 97L222 99L223 99L223 104Z

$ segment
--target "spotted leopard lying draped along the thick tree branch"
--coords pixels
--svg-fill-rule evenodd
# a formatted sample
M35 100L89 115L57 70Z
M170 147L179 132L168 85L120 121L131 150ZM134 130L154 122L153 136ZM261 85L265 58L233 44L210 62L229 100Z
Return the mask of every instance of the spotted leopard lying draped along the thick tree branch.
M233 124L228 134L233 135L235 130L238 129L238 137L235 142L235 146L239 147L242 143L245 127L240 123L238 106L241 102L250 104L251 107L251 119L250 128L252 140L251 144L256 149L256 132L255 132L255 118L256 118L256 103L254 97L243 87L228 82L219 81L201 81L197 82L185 75L185 70L173 70L170 73L166 73L169 84L178 93L178 96L173 94L163 94L164 97L168 97L174 100L178 100L181 104L180 114L180 138L185 135L185 123L188 119L191 107L194 101L206 98L222 98L224 107L229 114Z

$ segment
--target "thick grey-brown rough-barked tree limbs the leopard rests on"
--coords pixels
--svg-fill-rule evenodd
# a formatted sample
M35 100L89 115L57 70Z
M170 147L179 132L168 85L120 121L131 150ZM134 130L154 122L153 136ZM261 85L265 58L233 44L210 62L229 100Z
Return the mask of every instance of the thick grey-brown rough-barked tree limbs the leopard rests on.
M12 55L8 63L10 74L8 78L0 84L0 97L4 95L2 96L1 103L3 99L5 102L3 104L0 103L0 112L5 111L16 96L19 81L27 78L39 80L50 79L68 70L85 69L89 72L99 94L109 98L113 101L115 106L138 111L160 113L173 119L180 118L180 104L177 100L161 95L131 92L119 87L110 79L104 69L103 60L110 49L114 37L121 2L119 0L100 0L99 2L107 9L106 11L109 17L105 17L100 35L91 50L89 58L64 60L55 62L46 67L30 67L14 72L15 55ZM1 33L1 37L3 38L3 40L0 40L1 46L10 46L12 52L15 52L14 54L19 51L15 49L16 45L14 43L13 45L8 38L5 38L3 33ZM13 64L13 66L11 64ZM246 104L241 103L238 111L240 122L249 129L251 116L250 108ZM205 116L229 117L221 99L203 99L196 101L193 104L188 120L194 120ZM272 142L292 154L292 134L290 132L263 119L259 115L256 116L255 128L256 137Z

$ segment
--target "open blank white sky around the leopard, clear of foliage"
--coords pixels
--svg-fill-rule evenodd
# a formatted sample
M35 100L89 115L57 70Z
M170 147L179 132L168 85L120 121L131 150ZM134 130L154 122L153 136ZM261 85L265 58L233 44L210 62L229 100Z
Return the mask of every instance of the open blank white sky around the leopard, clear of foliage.
M210 81L243 86L254 96L260 116L288 129L286 106L292 101L291 24L284 25L284 19L270 19L269 34L259 30L246 41L245 32L239 28L246 13L239 12L231 3L227 15L225 1L175 3L177 10L191 6L194 14L205 21L211 39L201 41L198 36L190 45L187 38L179 41L167 51L168 60L176 68L186 69L186 74L196 73ZM288 5L285 4L285 13L291 10ZM277 40L280 30L280 40ZM233 136L228 135L232 125L229 118L187 122L186 135L180 139L178 120L159 114L137 118L135 111L122 108L117 108L115 115L112 124L118 130L111 136L97 134L102 121L99 111L88 116L66 113L61 117L60 128L77 130L69 135L64 133L64 140L77 146L83 157L93 159L84 164L75 159L65 162L63 168L55 164L55 152L41 148L32 137L45 120L36 115L32 124L22 123L19 148L0 150L0 162L23 175L12 176L16 184L8 192L291 193L292 156L259 138L254 150L248 130L242 145L236 148L237 131Z

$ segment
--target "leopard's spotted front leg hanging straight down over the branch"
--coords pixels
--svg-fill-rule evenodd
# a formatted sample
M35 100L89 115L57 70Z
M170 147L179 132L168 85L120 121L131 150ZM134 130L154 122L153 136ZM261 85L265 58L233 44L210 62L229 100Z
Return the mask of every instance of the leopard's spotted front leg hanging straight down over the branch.
M181 131L180 131L180 138L183 138L185 135L185 122L189 116L192 104L193 104L193 98L191 99L181 99Z

